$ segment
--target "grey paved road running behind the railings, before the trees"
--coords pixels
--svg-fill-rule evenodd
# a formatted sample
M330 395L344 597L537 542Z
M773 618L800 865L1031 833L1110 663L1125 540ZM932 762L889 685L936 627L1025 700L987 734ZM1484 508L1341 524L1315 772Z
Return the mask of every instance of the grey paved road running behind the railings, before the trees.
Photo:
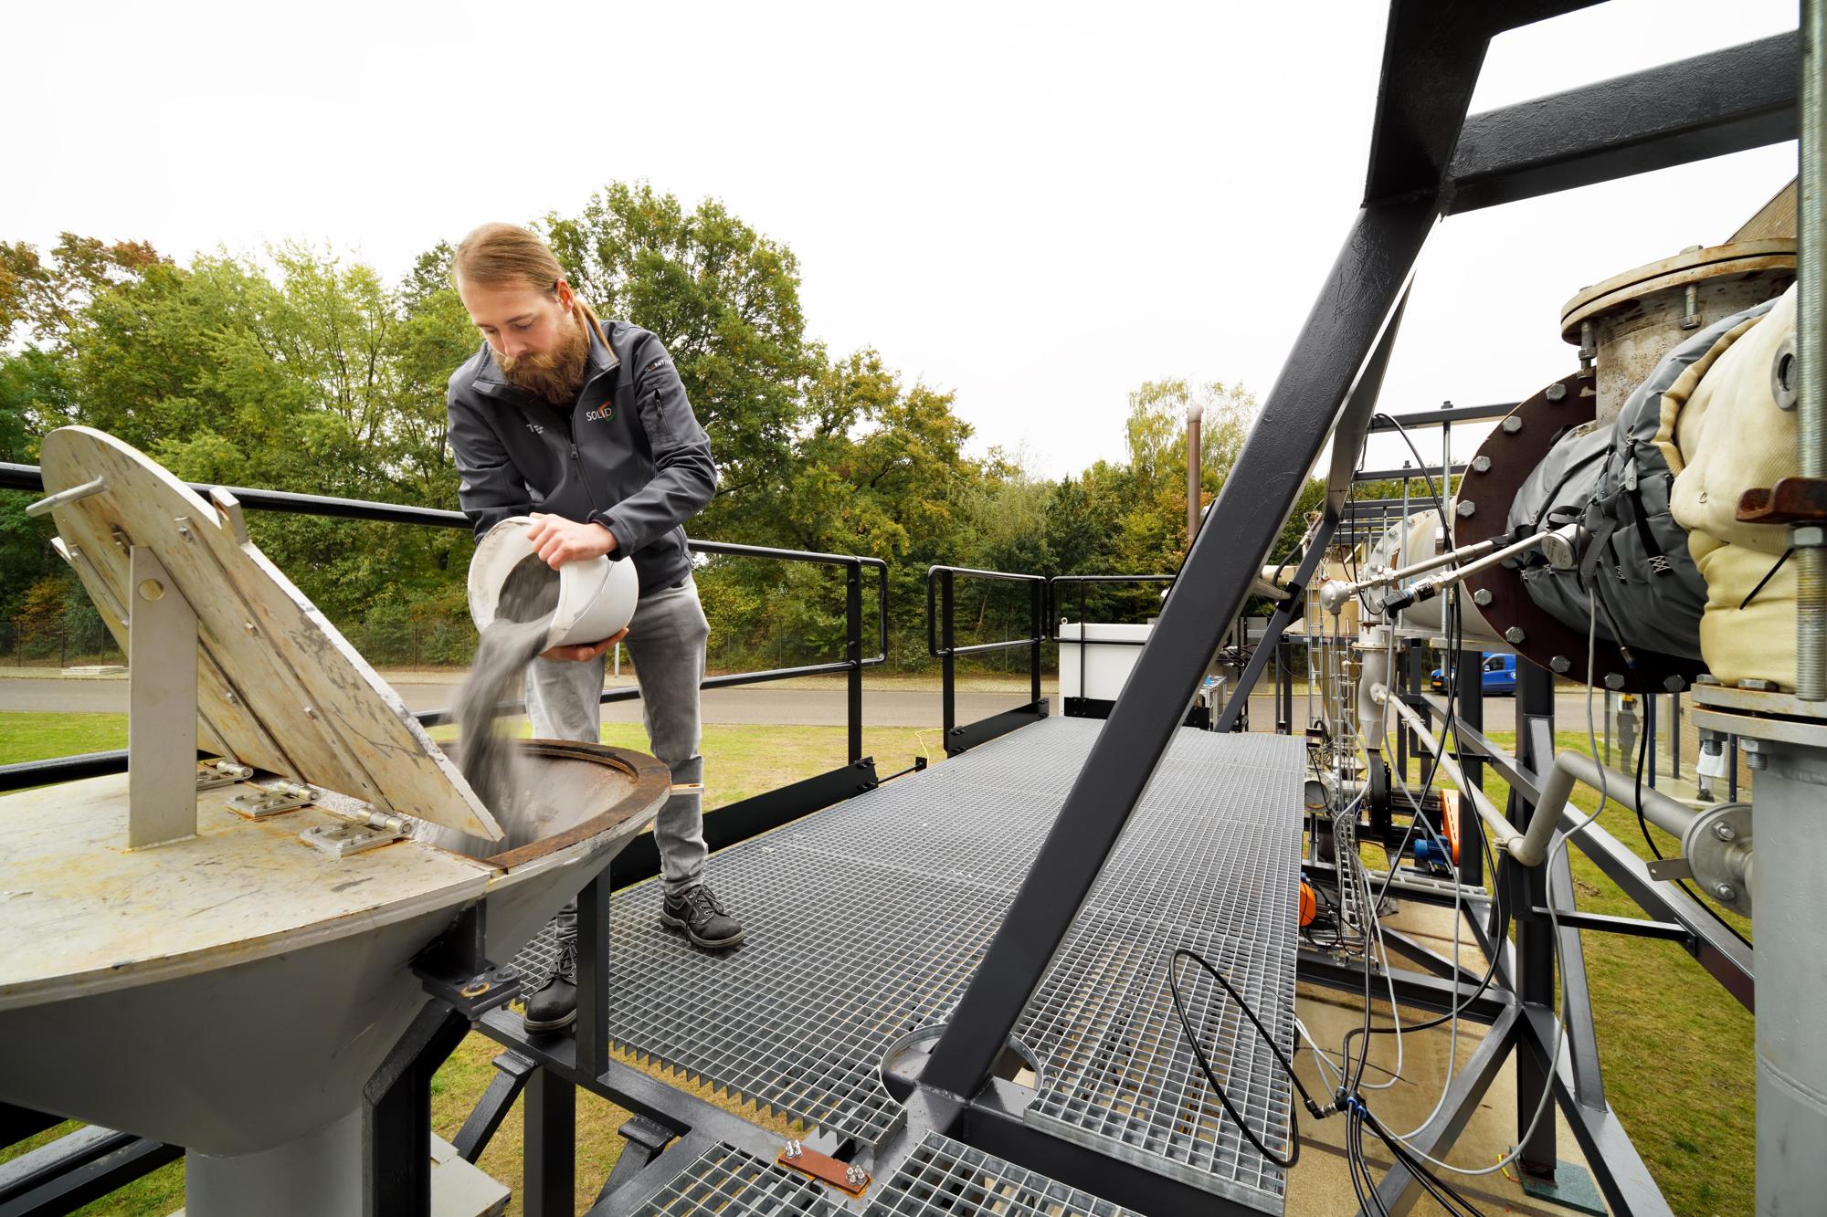
M455 700L451 682L402 682L395 685L415 711L440 709ZM976 722L998 711L1010 709L1021 693L961 693L957 720ZM1049 696L1054 696L1049 689ZM57 680L57 678L0 678L0 711L57 711L57 713L111 713L124 714L128 687L124 680ZM1580 693L1562 693L1555 698L1560 729L1577 729L1586 722L1586 700ZM1485 729L1513 731L1513 698L1485 700ZM1056 702L1058 709L1058 702ZM1295 694L1294 711L1306 713L1306 698ZM1602 713L1602 704L1600 704ZM1273 724L1275 707L1266 696L1250 698L1250 716L1261 727ZM639 702L612 702L603 707L605 722L639 722ZM714 724L795 724L844 725L844 691L831 685L744 685L738 689L711 689L703 694L703 718ZM864 689L862 720L873 727L935 727L939 725L937 689Z

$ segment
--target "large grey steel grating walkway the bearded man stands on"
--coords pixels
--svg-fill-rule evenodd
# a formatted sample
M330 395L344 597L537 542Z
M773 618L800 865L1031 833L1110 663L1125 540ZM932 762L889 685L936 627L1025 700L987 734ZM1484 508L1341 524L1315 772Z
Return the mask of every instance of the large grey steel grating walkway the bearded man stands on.
M946 1020L1100 725L1045 718L718 853L709 879L749 930L729 954L663 930L658 883L618 892L612 1043L881 1148L903 1124L884 1053ZM1204 954L1292 1051L1304 758L1299 738L1177 733L1016 1029L1038 1064L1029 1124L1281 1212L1281 1171L1184 1043L1166 963ZM1182 994L1226 1093L1284 1146L1268 1047L1199 968Z

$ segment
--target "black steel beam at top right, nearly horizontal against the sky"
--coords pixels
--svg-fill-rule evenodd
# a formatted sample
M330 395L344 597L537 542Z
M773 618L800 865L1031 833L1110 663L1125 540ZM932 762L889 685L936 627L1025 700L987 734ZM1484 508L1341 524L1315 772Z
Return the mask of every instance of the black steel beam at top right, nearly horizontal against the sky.
M1796 31L1465 119L1447 214L1794 139Z

